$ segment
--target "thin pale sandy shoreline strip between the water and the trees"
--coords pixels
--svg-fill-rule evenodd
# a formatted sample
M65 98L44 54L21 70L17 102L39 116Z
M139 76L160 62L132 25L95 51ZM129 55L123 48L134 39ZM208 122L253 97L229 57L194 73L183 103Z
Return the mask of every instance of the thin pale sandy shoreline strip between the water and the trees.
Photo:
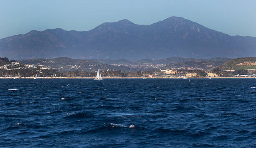
M0 79L34 79L34 77L0 77ZM37 77L36 79L95 79L95 77ZM143 79L142 77L103 77L103 79ZM154 77L146 79L183 79L183 77ZM188 77L187 79L256 79L256 77Z

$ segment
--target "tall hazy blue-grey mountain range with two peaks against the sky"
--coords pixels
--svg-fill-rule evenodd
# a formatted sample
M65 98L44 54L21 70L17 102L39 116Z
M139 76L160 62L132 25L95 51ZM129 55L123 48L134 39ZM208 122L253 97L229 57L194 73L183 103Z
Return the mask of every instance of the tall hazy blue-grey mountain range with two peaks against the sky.
M182 17L169 17L151 25L129 20L105 22L90 31L32 30L0 39L0 57L15 60L255 56L256 37L230 36Z

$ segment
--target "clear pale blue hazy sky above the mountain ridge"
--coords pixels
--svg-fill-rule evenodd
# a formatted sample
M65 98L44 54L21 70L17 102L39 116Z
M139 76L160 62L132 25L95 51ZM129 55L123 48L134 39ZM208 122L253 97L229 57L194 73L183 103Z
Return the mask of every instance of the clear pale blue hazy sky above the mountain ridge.
M123 19L149 25L173 15L256 37L256 0L0 0L0 38L56 27L91 30Z

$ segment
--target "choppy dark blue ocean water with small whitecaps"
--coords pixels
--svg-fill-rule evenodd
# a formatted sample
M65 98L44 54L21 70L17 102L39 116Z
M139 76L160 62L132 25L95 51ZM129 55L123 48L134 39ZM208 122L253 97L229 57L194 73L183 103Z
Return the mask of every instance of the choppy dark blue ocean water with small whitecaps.
M256 79L0 79L0 147L254 147Z

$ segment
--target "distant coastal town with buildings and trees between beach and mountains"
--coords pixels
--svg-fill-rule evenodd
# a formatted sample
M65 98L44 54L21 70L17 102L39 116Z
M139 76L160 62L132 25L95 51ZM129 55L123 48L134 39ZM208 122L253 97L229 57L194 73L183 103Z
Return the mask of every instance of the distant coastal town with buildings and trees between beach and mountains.
M95 77L97 69L101 69L103 77L135 77L135 78L212 78L212 77L255 77L256 69L223 69L222 64L212 69L199 67L175 67L174 64L162 63L125 63L125 64L86 64L69 62L60 64L54 60L43 60L37 64L23 64L20 61L0 57L1 78L82 78ZM52 65L52 66L49 66ZM254 66L256 62L241 62L236 66ZM120 70L119 70L120 69Z

